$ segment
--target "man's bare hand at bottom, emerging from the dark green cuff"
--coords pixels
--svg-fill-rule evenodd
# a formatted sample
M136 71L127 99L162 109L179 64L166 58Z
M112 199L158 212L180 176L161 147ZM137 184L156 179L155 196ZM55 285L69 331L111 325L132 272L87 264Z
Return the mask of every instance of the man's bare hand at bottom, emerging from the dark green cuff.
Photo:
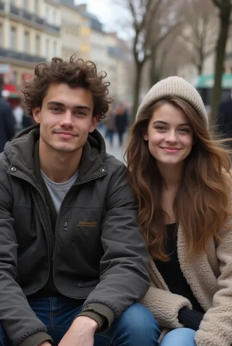
M93 346L93 337L97 328L98 324L94 319L79 316L74 319L59 346Z

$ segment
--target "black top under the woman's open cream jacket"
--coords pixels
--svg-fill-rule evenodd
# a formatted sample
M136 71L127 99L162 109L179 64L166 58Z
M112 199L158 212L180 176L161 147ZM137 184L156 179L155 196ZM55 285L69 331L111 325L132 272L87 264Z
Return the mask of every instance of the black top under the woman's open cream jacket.
M169 255L168 262L155 260L159 272L161 273L170 292L186 297L192 304L193 310L204 313L194 294L184 277L177 254L177 224L166 225L165 250Z

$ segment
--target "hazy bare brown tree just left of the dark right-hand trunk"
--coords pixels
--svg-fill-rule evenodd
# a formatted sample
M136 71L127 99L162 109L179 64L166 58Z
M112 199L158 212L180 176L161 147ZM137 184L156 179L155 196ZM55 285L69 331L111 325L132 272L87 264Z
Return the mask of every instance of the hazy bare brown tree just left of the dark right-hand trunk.
M206 59L215 50L217 12L211 0L187 0L183 11L186 23L180 35L182 51L201 75Z

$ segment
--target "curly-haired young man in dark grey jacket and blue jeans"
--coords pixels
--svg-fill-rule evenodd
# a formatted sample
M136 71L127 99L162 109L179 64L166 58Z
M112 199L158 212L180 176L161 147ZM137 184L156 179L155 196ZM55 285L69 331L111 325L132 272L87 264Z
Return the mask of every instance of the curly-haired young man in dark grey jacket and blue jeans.
M108 86L53 58L23 89L37 125L0 154L0 345L158 345L137 206L95 130Z

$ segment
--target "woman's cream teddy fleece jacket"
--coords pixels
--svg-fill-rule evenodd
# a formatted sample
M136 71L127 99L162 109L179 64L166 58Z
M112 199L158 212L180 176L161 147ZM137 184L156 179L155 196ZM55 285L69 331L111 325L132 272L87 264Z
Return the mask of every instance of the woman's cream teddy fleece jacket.
M220 240L211 239L208 251L186 261L187 244L179 226L177 251L181 270L202 308L206 311L196 332L197 346L232 345L232 229L221 230ZM161 327L183 327L178 321L182 307L191 309L185 297L168 290L151 260L152 287L142 300Z

